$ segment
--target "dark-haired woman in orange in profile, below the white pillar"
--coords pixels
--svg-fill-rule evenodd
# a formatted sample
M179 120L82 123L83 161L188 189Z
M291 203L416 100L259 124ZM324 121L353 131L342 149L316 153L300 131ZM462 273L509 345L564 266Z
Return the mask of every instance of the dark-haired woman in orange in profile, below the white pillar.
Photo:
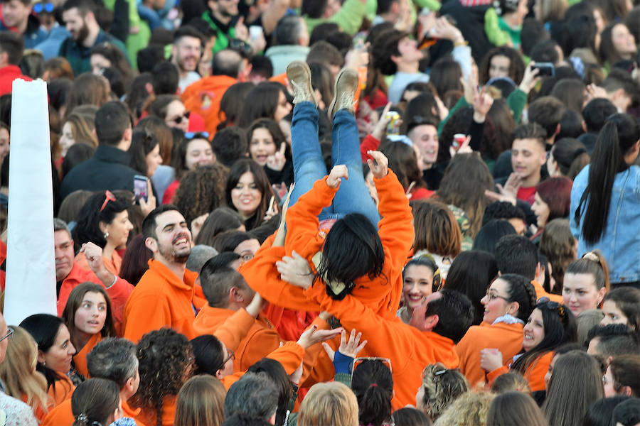
M71 398L75 386L68 378L75 347L63 320L55 315L34 314L20 323L38 344L36 370L47 380L47 393L53 408Z

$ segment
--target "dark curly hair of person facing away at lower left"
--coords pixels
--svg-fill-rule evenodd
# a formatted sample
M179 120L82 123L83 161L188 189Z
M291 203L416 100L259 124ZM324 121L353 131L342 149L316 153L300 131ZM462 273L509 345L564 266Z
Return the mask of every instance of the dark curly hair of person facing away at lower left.
M193 351L187 338L173 329L162 328L144 334L136 348L140 386L130 399L156 425L162 425L166 396L176 396L193 373Z

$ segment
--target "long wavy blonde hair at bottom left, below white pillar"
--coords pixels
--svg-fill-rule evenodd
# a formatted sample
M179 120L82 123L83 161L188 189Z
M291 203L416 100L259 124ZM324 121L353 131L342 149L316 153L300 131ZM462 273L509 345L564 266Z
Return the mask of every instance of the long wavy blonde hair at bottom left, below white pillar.
M47 379L36 371L38 345L25 329L9 327L14 329L14 335L8 339L6 358L0 364L0 379L6 385L6 394L18 400L24 395L34 412L40 408L47 413Z

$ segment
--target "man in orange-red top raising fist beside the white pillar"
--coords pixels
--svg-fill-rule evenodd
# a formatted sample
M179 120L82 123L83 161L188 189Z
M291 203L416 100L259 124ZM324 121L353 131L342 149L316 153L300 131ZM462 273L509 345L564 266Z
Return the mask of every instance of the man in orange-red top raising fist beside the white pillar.
M124 303L133 290L133 285L113 275L105 267L102 260L102 249L93 243L83 245L82 252L87 257L91 268L87 271L75 263L73 239L67 224L62 219L53 219L53 249L55 252L55 281L58 295L58 315L62 315L71 290L79 284L90 281L100 284L107 290L111 300L111 308L116 323L124 320Z

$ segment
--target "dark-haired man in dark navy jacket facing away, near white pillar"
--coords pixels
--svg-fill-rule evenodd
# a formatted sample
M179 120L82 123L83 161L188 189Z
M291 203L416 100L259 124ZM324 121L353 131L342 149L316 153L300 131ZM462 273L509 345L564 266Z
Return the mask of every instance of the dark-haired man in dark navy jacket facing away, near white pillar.
M98 147L92 158L76 165L60 186L64 199L75 190L127 190L133 192L134 176L129 167L132 121L127 107L119 101L102 105L95 114Z

